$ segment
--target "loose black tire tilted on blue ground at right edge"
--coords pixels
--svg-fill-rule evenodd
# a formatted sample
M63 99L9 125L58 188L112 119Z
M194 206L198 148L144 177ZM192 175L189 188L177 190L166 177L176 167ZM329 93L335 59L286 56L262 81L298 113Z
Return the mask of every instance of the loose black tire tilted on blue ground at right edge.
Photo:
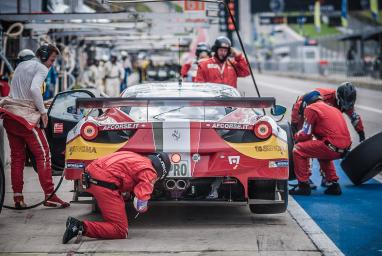
M342 160L341 167L353 182L360 185L382 171L382 132L365 140Z

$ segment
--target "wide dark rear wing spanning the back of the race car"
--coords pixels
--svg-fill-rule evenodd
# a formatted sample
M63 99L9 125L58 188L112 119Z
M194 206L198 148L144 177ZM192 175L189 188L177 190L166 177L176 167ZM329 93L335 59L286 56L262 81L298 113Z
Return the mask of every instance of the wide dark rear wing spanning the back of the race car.
M276 104L274 97L154 97L154 98L77 98L76 108L116 108L152 106L190 106L190 107L235 107L271 108Z

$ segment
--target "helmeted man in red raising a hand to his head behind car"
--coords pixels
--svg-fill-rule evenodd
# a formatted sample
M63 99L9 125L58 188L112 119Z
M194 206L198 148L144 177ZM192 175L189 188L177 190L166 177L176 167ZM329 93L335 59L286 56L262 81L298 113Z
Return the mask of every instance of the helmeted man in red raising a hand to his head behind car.
M214 56L199 63L195 82L227 84L237 88L237 78L248 76L250 71L243 54L231 46L227 37L218 37L212 46Z

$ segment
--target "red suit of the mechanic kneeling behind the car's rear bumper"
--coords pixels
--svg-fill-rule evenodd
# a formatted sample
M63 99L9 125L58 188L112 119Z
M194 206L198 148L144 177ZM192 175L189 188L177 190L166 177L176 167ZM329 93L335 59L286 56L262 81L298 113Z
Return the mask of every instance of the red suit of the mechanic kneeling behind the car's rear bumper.
M86 171L94 179L114 183L118 189L91 184L86 190L97 200L105 222L84 221L84 235L94 238L127 238L128 222L122 192L133 192L148 201L157 179L151 161L139 154L122 151L93 161Z

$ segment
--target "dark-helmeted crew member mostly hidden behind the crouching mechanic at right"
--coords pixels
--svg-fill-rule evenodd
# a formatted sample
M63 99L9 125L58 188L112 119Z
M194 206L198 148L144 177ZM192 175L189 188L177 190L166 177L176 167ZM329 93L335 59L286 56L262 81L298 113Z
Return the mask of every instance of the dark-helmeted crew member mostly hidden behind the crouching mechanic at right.
M365 131L363 128L362 119L361 116L354 111L354 104L357 98L357 92L354 86L350 82L345 82L337 88L337 91L329 88L317 88L315 91L320 93L325 103L339 109L341 112L346 113L346 115L350 118L354 129L359 135L359 141L364 141ZM294 132L301 129L304 120L302 115L304 106L301 105L302 98L303 96L299 97L292 108L291 123Z

